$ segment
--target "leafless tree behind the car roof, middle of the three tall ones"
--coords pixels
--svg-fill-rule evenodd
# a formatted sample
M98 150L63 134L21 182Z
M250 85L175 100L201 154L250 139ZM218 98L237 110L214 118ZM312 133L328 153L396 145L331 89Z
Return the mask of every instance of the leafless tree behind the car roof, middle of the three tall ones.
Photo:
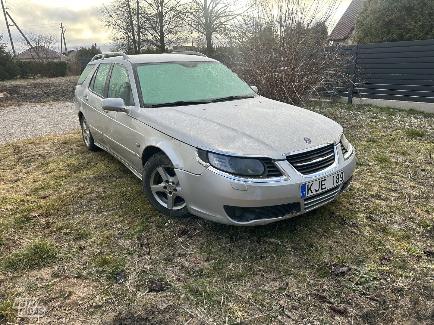
M166 52L166 47L184 38L185 23L179 16L179 0L143 0L144 42Z

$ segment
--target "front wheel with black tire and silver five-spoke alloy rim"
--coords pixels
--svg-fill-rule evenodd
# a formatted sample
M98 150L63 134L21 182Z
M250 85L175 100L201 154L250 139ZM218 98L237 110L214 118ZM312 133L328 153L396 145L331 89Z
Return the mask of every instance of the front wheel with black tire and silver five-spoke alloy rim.
M173 164L163 152L146 162L141 182L148 201L157 211L171 217L190 216Z

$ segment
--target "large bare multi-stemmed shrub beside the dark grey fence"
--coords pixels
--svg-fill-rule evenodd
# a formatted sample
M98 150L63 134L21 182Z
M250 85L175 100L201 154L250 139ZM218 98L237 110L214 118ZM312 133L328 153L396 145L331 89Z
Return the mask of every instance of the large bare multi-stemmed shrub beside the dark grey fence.
M324 41L324 26L338 1L263 2L230 35L240 49L231 67L264 96L294 105L322 91L348 88L348 57Z

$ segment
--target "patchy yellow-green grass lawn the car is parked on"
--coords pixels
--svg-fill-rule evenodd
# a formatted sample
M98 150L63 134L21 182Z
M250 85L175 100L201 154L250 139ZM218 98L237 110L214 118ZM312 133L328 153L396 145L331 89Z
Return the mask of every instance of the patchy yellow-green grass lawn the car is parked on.
M0 322L23 322L10 309L23 296L53 324L432 322L434 259L424 250L434 250L434 116L310 108L355 146L352 186L258 227L158 213L141 182L109 154L86 151L79 131L1 145ZM334 263L348 270L333 276ZM169 289L148 290L166 280Z

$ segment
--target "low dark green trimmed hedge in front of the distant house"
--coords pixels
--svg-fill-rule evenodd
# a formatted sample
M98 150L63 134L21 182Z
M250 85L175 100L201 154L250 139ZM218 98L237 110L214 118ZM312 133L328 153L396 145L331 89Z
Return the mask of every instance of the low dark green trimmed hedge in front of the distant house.
M68 64L65 61L18 61L21 78L32 77L65 77L68 74Z

